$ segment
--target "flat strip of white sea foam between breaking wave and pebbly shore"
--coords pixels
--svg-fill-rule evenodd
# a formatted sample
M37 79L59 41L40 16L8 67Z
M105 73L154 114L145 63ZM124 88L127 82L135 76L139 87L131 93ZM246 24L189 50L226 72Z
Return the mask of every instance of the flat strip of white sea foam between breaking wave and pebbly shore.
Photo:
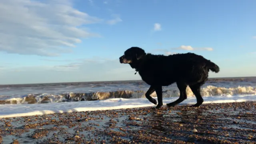
M240 90L236 91L240 92ZM177 98L164 98L164 105L173 102ZM204 104L224 103L224 102L246 102L256 101L256 95L227 95L204 97ZM195 97L188 97L180 104L195 104ZM64 112L80 112L90 110L111 110L120 108L138 108L145 106L155 106L146 98L125 99L111 98L108 100L82 101L82 102L59 102L48 104L2 104L0 105L0 118L16 116L33 116L42 114L54 114Z

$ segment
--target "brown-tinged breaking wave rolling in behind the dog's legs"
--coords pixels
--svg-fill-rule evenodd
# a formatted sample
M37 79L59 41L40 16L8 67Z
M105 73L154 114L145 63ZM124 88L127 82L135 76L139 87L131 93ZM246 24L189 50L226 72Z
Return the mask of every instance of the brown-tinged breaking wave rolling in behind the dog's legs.
M187 88L187 95L194 96L191 89ZM89 92L89 93L64 93L64 94L26 94L17 98L9 96L0 96L0 104L45 104L54 102L77 102L77 101L92 101L106 100L109 98L145 98L146 91L144 90L119 90L113 92ZM256 94L256 87L238 86L234 88L224 88L216 86L206 86L201 88L202 96L227 96L227 95L244 95ZM163 97L178 97L179 90L163 90ZM151 94L156 97L156 93ZM9 97L9 98L8 98Z

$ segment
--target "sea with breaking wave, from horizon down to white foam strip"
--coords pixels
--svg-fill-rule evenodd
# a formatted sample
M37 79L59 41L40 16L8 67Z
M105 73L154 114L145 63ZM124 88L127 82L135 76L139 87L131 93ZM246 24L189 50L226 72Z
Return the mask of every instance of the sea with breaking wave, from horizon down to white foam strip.
M0 85L0 104L46 104L145 98L150 86L141 80L106 82L68 82ZM187 87L188 97L194 94ZM163 87L163 97L178 97L176 83ZM209 78L201 88L203 97L256 95L256 77ZM154 92L152 97L156 97Z

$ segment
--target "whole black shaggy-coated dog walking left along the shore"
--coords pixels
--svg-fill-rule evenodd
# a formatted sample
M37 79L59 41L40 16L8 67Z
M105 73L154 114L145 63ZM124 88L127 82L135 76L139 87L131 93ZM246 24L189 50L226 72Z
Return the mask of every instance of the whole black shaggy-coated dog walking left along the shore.
M186 100L187 86L196 96L197 103L192 106L200 106L204 102L200 94L200 87L208 79L209 70L216 73L220 71L216 64L194 53L164 56L146 54L142 48L132 47L126 50L119 59L120 63L130 64L132 68L135 68L142 80L150 85L146 92L146 98L153 104L157 104L157 102L150 94L156 91L158 100L156 108L163 105L162 86L168 86L174 82L180 90L180 97L167 106L175 106Z

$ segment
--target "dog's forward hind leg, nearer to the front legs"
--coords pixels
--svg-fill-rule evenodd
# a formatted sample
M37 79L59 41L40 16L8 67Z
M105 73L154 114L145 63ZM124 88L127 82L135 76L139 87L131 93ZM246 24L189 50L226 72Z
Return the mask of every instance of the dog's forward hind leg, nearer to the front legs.
M177 82L177 86L178 86L178 89L180 90L180 97L178 98L178 100L171 102L169 104L166 104L168 107L176 106L177 104L187 99L187 94L186 94L187 85L182 82Z

